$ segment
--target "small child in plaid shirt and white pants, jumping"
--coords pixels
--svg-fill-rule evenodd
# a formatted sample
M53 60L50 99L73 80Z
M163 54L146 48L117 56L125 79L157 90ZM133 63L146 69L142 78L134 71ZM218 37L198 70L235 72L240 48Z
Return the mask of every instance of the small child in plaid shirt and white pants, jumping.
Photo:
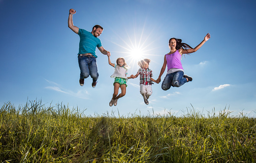
M156 82L155 79L152 78L152 70L149 69L150 59L143 59L138 62L138 65L141 69L138 70L137 74L134 75L133 78L138 77L140 75L140 93L144 98L145 104L149 104L148 98L152 94L151 85ZM153 82L152 82L153 81Z

